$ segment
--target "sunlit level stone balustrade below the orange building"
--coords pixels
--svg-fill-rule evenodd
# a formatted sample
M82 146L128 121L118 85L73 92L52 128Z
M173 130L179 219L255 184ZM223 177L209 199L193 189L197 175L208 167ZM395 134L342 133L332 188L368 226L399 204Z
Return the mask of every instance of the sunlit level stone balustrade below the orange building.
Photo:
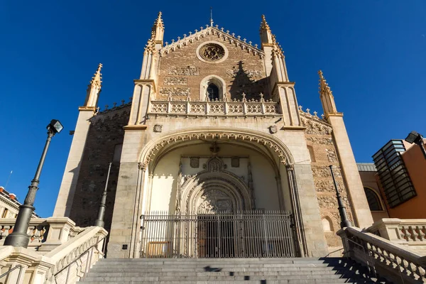
M367 229L397 244L426 242L426 219L383 218ZM408 244L411 245L411 244Z

